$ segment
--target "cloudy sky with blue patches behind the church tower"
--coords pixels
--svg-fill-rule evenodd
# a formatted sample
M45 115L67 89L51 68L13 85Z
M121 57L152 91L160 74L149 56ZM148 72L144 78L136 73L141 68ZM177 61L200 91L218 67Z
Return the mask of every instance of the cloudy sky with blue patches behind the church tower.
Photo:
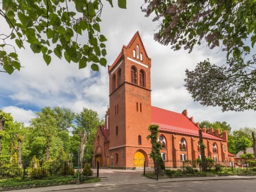
M152 59L152 105L179 113L186 108L188 115L194 116L194 121L227 121L232 129L256 127L253 111L223 113L219 107L203 107L193 101L183 86L185 69L194 69L196 63L204 59L223 63L225 55L204 45L188 54L183 50L172 51L168 46L155 42L156 23L141 13L143 2L127 1L127 10L118 9L117 5L111 8L104 2L101 31L108 39L108 65L112 65L123 44L128 44L138 30ZM2 27L2 19L0 23L1 34L5 27ZM77 63L69 64L57 57L46 66L42 56L34 54L28 47L18 50L18 54L24 68L11 76L0 73L0 108L12 113L16 121L29 124L35 112L46 106L66 107L76 113L86 107L104 117L108 105L107 67L101 66L99 73L94 73L90 66L79 70Z

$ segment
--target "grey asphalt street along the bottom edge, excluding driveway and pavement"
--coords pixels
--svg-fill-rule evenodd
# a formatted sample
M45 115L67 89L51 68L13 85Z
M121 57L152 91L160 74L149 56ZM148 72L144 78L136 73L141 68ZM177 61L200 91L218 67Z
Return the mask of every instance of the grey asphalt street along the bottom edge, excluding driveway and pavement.
M61 191L73 191L73 192L90 192L90 191L109 191L109 192L184 192L184 191L207 191L207 192L219 192L219 191L232 191L232 192L249 192L256 191L256 180L205 180L205 181L182 181L182 182L165 182L165 183L147 183L140 185L118 185L111 187L93 187L93 188L80 188L74 190L61 190Z

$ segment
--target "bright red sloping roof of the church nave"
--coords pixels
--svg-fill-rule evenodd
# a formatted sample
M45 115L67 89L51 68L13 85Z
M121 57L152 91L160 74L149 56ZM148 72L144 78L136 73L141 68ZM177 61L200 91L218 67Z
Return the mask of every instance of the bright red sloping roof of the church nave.
M159 129L164 132L180 133L183 135L191 135L199 137L199 127L195 126L190 119L176 112L171 112L163 108L151 106L151 121L152 124L158 124ZM202 132L203 138L226 141L222 138L211 135L210 133Z

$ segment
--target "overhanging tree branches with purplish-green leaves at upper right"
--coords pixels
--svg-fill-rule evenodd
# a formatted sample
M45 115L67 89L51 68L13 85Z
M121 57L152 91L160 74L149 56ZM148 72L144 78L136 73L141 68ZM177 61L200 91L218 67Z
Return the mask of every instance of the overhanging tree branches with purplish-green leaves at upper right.
M221 106L222 111L256 110L256 2L146 0L146 16L155 13L159 30L154 39L171 49L193 51L206 42L227 53L227 63L209 60L186 70L185 87L194 101Z

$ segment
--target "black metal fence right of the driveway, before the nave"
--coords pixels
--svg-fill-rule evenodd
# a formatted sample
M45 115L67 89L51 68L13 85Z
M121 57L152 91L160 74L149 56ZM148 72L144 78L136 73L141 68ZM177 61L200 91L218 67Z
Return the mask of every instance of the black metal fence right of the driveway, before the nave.
M164 165L164 166L163 166ZM184 176L186 174L195 174L201 171L201 163L196 161L165 161L163 165L154 162L144 162L144 176L148 176L152 179L161 179L168 177L170 174ZM164 169L162 168L164 167ZM221 168L233 169L234 162L207 162L207 168L209 170L219 171Z

